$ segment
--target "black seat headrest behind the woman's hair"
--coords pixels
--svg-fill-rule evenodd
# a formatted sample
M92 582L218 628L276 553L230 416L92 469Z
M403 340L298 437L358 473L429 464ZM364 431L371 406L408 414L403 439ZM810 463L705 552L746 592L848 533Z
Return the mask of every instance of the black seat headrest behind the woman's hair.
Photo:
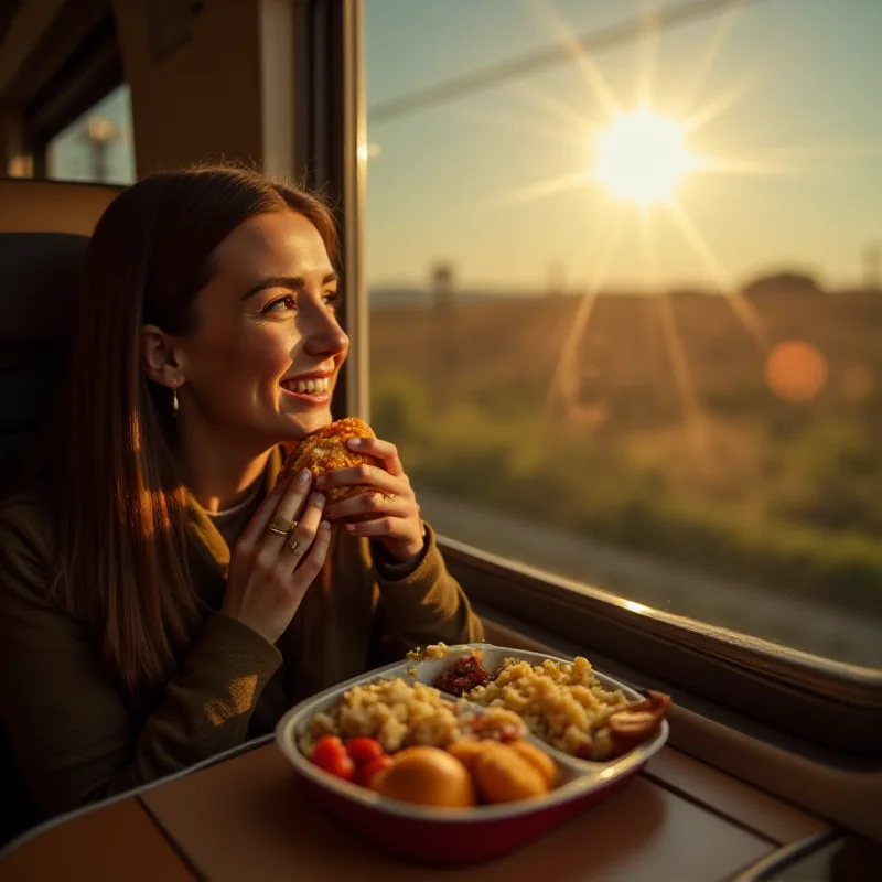
M88 236L0 233L0 345L69 338Z

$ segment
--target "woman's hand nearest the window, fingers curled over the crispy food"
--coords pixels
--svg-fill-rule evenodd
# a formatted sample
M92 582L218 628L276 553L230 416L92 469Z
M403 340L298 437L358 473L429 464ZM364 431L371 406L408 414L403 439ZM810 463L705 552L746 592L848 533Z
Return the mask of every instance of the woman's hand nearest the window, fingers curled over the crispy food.
M346 533L376 539L399 563L412 562L422 551L426 529L397 448L376 438L351 438L346 447L380 460L383 469L375 465L337 469L319 475L316 487L329 491L358 484L373 487L376 493L362 493L330 505L325 517L329 520L358 517L359 523L346 524Z

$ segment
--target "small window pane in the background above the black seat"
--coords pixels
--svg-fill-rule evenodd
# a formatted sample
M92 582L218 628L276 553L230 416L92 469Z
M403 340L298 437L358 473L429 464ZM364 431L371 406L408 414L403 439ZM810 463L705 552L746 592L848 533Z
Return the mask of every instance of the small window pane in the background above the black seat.
M46 146L46 176L105 184L135 182L129 87L120 85Z

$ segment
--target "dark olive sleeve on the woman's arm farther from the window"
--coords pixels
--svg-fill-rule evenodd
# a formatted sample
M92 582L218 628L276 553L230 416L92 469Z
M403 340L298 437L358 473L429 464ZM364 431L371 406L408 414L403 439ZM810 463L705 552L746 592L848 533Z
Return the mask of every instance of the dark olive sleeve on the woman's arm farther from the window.
M46 600L39 513L0 512L0 722L46 815L185 768L247 736L279 650L216 613L139 720L86 628Z

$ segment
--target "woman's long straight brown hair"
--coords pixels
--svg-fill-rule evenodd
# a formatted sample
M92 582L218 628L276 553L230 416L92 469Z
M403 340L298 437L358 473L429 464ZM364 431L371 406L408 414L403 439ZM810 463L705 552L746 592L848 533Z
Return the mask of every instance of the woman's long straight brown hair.
M172 676L198 620L171 390L147 378L141 324L192 332L215 248L249 218L286 209L314 224L335 262L334 220L319 198L230 166L146 178L108 206L88 246L54 452L53 590L132 692Z

